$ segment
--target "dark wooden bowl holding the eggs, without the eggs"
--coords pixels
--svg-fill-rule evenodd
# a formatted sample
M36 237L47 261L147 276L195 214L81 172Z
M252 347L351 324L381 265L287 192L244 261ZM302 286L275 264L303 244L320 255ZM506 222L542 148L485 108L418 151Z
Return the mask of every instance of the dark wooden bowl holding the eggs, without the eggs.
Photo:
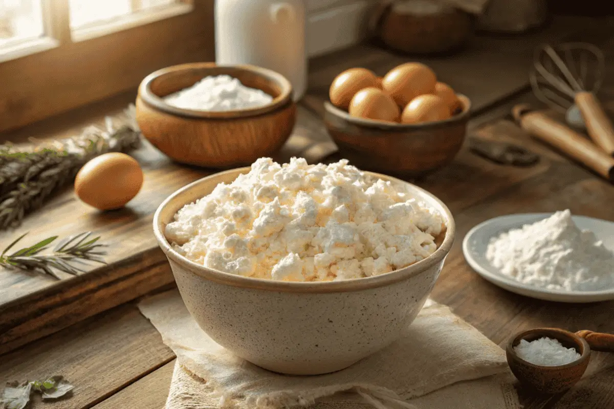
M444 121L399 124L356 118L325 102L324 122L341 156L360 169L406 176L448 164L461 150L471 103L458 95L462 111Z

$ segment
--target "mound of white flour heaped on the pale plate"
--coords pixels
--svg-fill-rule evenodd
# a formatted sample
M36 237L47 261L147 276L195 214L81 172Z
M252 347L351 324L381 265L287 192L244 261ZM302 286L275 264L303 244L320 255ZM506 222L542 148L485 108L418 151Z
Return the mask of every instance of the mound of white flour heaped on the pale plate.
M614 253L569 210L493 237L486 258L520 283L559 291L614 287Z

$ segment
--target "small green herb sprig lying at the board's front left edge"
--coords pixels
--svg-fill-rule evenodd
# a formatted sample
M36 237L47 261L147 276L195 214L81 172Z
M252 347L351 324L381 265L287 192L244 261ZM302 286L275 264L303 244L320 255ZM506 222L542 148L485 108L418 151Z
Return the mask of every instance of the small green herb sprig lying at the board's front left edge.
M85 266L85 261L106 264L103 259L106 251L101 250L103 247L106 247L106 245L98 243L100 237L90 239L91 232L73 235L62 240L51 254L41 253L47 250L48 246L54 242L58 236L49 237L33 246L25 247L9 254L9 250L20 242L26 234L18 237L17 240L10 243L9 247L2 251L0 255L0 266L25 271L42 272L60 280L60 276L56 271L78 275L84 272L82 266L78 266L78 264Z

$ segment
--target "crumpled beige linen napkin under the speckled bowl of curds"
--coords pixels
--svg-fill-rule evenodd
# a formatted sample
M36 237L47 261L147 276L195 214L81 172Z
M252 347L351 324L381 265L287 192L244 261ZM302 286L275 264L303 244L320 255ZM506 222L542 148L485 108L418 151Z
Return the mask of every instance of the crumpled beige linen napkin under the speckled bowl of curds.
M519 407L503 350L431 300L391 346L348 369L313 377L268 372L225 350L201 331L176 289L143 300L139 309L177 356L167 409L295 408L314 403L340 409L348 402L378 409L414 408L416 403L408 401L421 396L426 408L462 408L457 403L463 399L472 408ZM425 396L484 377L490 378ZM445 401L453 405L442 406Z

